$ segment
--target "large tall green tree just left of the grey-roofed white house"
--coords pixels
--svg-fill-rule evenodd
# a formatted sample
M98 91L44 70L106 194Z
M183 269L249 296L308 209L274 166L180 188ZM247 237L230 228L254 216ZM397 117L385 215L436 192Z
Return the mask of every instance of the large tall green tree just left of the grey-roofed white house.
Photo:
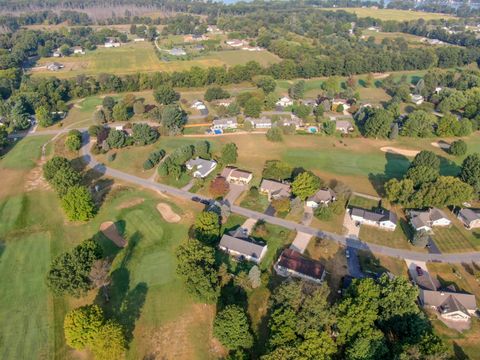
M215 250L196 239L190 239L177 249L177 274L188 292L201 301L214 303L220 295Z

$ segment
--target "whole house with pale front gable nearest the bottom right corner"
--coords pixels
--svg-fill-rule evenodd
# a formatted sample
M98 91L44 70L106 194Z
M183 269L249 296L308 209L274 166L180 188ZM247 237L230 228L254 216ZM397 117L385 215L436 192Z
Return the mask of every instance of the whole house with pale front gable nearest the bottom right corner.
M446 320L468 321L477 310L477 301L472 294L420 289L419 300Z

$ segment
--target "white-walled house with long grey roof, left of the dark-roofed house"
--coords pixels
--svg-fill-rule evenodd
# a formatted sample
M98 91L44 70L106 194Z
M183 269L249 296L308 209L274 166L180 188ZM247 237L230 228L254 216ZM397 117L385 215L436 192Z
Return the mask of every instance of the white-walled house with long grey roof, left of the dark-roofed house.
M240 259L259 264L267 253L267 245L254 242L252 239L223 235L218 244L220 250Z

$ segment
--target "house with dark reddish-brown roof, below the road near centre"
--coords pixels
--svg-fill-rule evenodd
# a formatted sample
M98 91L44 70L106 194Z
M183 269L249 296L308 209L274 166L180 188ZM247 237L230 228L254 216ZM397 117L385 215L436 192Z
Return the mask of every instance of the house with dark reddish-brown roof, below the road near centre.
M283 250L274 268L283 277L293 276L316 283L321 283L325 278L325 267L320 262L292 249Z

